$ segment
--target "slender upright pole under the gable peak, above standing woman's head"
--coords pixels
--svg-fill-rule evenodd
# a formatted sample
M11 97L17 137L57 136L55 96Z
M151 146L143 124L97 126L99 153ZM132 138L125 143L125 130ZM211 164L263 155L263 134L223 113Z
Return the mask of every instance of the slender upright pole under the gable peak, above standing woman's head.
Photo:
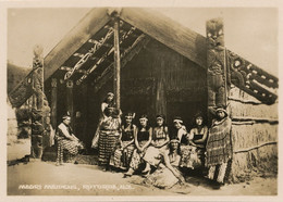
M120 109L120 78L121 78L121 63L120 63L120 20L116 17L114 20L114 93L116 108Z

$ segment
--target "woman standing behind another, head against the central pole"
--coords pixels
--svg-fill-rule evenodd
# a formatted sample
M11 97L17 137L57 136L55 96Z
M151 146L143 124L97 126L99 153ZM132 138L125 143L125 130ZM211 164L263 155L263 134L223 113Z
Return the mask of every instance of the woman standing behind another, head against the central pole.
M100 128L100 125L103 122L103 119L108 117L108 115L106 113L106 109L113 108L113 106L114 106L114 93L108 92L107 98L103 100L103 102L101 103L101 106L100 106L99 122L97 125L95 136L93 138L91 148L98 148L99 128Z

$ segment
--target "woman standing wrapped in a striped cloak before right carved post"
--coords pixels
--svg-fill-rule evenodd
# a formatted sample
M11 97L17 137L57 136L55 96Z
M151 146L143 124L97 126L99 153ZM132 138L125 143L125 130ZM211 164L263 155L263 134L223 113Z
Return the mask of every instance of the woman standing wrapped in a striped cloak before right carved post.
M212 121L211 128L207 140L207 161L209 167L208 178L219 188L224 184L227 162L232 159L232 139L231 139L232 121L227 112L217 109L217 118Z

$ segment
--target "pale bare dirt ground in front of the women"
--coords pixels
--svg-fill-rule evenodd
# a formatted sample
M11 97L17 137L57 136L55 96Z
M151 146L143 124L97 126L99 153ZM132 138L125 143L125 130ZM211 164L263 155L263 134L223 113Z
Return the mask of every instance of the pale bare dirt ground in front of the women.
M185 186L161 190L140 185L139 176L103 172L97 165L29 162L8 166L8 195L275 195L278 178L257 177L249 182L212 189L204 178L188 177Z

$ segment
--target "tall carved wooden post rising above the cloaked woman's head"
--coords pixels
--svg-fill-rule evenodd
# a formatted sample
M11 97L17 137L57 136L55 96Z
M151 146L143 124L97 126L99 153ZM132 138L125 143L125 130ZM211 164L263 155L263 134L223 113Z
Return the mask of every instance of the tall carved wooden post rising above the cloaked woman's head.
M226 67L222 18L207 22L208 108L226 106Z

